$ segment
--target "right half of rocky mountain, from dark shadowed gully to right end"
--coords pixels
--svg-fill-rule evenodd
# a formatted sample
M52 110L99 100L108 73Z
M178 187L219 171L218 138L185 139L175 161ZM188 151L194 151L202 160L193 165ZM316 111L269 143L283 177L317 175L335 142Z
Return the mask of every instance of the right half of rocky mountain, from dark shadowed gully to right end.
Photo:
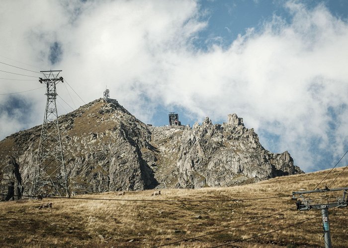
M222 125L206 118L193 128L149 129L160 152L147 162L153 165L161 186L233 186L303 173L287 151L274 154L265 150L254 129L246 128L236 114L229 115Z

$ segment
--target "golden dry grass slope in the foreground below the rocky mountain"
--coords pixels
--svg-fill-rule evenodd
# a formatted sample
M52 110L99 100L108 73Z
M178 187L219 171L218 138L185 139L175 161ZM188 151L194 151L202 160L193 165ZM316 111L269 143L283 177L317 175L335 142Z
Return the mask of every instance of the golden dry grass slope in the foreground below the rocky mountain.
M343 171L335 169L319 186L331 184ZM155 247L231 228L167 247L324 247L321 217L255 239L240 241L280 229L320 214L320 210L296 208L248 225L233 228L295 206L291 192L314 189L329 171L270 179L257 184L220 188L163 189L79 195L71 199L43 199L0 202L1 247ZM348 186L348 170L331 186ZM336 192L337 193L337 192ZM341 194L341 192L340 192ZM143 200L222 200L289 195L283 198L242 201L113 201L86 198ZM312 196L312 195L311 195ZM314 195L313 195L314 196ZM52 208L38 209L45 202ZM200 215L201 218L196 218ZM330 212L332 244L348 247L348 208Z

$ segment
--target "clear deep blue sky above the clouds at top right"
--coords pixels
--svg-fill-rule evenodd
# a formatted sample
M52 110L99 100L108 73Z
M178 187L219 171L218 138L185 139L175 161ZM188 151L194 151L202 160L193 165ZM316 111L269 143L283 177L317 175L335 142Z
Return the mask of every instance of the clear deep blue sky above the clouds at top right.
M347 18L347 1L332 0L304 0L298 1L308 9L324 4L330 12L340 18ZM273 15L291 22L292 15L284 8L285 0L216 0L201 1L202 9L209 15L208 28L201 34L203 37L222 37L225 45L237 38L238 34L245 33L248 28L260 28L264 21L270 20ZM204 39L204 38L203 38Z

